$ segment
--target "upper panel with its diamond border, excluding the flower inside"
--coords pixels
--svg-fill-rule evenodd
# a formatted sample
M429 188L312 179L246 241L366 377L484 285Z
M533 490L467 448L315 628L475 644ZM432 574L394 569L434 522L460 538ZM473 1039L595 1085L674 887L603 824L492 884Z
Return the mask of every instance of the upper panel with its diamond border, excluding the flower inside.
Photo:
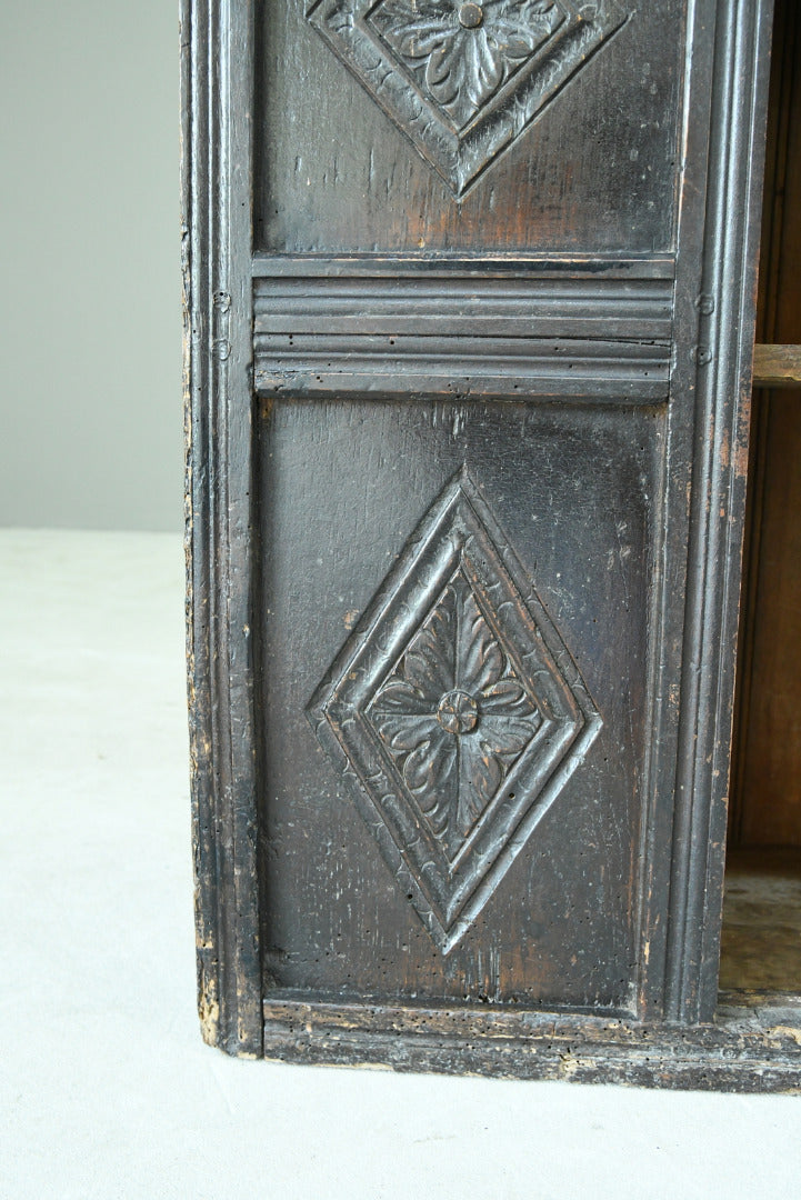
M534 19L536 7L493 2L472 29L453 0L435 11L453 32L447 44L468 48L483 44L496 14ZM381 5L255 4L255 246L289 254L669 252L686 0L644 8L559 0L558 8L565 18L553 37L459 136L421 92L424 79L381 38ZM499 53L501 41L508 44L506 34Z

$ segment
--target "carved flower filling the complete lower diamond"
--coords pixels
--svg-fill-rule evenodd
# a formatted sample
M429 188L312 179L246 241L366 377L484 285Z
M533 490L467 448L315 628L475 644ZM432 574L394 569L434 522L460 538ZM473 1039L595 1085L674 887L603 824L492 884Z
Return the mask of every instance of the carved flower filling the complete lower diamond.
M372 716L448 858L542 724L462 574L378 692Z

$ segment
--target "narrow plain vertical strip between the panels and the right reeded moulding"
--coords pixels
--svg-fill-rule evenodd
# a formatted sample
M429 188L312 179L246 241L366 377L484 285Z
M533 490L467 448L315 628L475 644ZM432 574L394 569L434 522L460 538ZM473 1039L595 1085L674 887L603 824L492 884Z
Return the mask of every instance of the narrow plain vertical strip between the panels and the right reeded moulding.
M705 360L704 313L710 298L703 293L703 260L709 185L712 101L719 74L716 44L719 0L698 0L687 11L683 70L683 120L676 142L681 174L676 190L674 296L674 361L670 403L666 412L664 452L660 463L660 506L655 516L654 587L646 722L649 736L643 762L643 805L639 842L633 857L640 863L638 878L637 986L638 1016L662 1021L674 1016L677 958L674 918L686 880L676 880L675 854L683 854L686 817L677 772L686 751L681 744L685 720L682 662L689 610L681 598L689 575L689 502L694 404L699 364ZM692 119L689 119L692 114ZM725 132L723 130L722 132ZM668 469L670 460L674 467ZM676 467L676 463L681 466ZM670 852L666 847L673 847Z

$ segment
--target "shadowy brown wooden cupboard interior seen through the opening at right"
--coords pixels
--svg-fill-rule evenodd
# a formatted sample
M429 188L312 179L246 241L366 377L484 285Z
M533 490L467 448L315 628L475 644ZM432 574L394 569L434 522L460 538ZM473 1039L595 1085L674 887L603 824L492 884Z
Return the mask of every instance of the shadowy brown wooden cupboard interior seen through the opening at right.
M801 20L777 8L730 839L801 846ZM776 344L788 343L788 344ZM781 388L781 390L772 390Z

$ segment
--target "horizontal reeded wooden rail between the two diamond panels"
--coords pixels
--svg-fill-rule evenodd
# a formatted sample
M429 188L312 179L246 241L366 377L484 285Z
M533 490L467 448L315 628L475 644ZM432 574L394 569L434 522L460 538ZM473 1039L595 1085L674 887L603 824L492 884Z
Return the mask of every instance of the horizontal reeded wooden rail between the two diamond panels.
M643 264L645 265L645 264ZM264 395L668 396L669 277L409 269L254 281ZM435 275L435 277L434 277Z

